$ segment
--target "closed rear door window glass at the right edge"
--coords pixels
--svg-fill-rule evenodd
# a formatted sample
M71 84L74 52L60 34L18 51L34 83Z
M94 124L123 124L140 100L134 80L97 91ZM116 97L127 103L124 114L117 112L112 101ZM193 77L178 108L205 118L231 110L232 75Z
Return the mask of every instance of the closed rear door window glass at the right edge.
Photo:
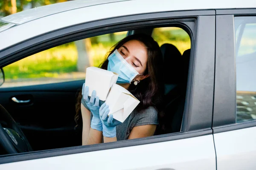
M256 17L235 17L235 28L236 121L241 122L256 119Z

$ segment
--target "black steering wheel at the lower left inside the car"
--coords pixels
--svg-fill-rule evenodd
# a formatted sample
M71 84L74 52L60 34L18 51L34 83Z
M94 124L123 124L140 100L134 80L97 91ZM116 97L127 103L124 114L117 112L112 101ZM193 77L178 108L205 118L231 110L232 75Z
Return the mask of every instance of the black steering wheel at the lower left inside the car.
M0 124L0 144L8 154L33 151L20 127L2 105L0 120L7 123L7 127Z

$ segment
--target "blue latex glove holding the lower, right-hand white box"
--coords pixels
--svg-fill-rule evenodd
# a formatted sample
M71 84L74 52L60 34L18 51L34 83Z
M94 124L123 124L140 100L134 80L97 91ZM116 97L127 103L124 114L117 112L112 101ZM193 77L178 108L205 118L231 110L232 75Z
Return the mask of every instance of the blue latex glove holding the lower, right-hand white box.
M106 105L106 103L104 103L103 105L101 105L101 107L99 108L99 117L102 121L102 133L103 136L108 137L108 138L113 138L116 137L116 126L121 124L122 122L119 122L116 119L113 119L113 115L109 115L109 108L108 105Z

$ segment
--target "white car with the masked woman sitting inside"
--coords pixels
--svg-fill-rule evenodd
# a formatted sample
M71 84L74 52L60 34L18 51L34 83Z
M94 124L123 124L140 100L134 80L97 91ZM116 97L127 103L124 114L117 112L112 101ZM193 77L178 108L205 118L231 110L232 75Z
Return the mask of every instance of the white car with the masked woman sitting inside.
M174 27L191 47L161 45L170 125L151 137L81 146L74 114L85 74L39 84L12 77L30 71L12 65L41 51ZM29 9L0 20L0 68L0 170L256 169L255 0L74 0Z

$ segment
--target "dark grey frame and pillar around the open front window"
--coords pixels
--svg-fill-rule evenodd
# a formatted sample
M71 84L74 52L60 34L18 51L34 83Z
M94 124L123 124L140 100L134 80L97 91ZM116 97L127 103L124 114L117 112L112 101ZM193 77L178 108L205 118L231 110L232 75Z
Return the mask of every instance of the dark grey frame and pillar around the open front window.
M175 17L173 17L172 13L176 14ZM192 38L192 55L190 56L191 59L189 63L189 79L184 107L182 132L118 141L107 144L95 144L90 146L68 147L53 150L34 151L30 153L4 155L0 156L0 164L13 161L24 161L51 156L113 149L117 147L129 147L140 144L186 139L212 134L211 126L214 81L214 65L212 65L212 61L214 61L215 57L215 11L176 11L157 14L159 14L161 17L156 19L154 14L118 17L63 28L61 30L35 37L27 40L26 42L21 42L14 45L5 51L0 51L0 56L2 56L0 58L0 67L35 54L39 51L49 49L53 46L87 37L93 37L99 35L99 33L108 34L117 31L127 31L128 28L142 28L147 26L163 27L170 26L171 24L173 25L173 23L175 23L180 27L183 26L184 28L188 29L190 31L190 38ZM145 15L148 18L147 20L143 19L145 18ZM193 20L195 21L194 23L191 22ZM198 30L200 30L202 33L199 33ZM206 34L207 37L204 36ZM204 51L208 52L206 53ZM205 69L208 69L207 79L202 77L200 74ZM208 93L207 95L205 95L206 92ZM200 99L201 95L204 95L206 99Z

